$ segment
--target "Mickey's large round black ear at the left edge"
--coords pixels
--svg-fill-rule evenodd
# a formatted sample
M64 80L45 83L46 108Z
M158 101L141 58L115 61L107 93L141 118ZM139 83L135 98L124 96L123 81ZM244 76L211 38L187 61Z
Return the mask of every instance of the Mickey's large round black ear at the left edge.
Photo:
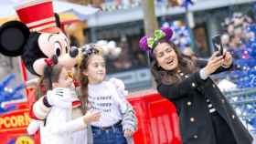
M29 34L25 24L19 21L6 22L0 27L0 53L9 57L22 55Z

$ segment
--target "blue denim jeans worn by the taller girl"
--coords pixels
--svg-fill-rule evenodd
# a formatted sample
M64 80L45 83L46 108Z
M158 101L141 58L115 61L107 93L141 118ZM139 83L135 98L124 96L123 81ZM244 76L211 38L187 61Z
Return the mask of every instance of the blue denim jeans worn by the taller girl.
M123 136L122 125L112 126L111 129L91 128L93 144L127 144Z

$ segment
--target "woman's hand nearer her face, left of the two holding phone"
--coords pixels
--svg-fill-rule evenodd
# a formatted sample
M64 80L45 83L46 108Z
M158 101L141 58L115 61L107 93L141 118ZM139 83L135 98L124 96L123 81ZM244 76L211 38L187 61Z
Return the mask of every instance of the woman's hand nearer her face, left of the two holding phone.
M205 67L205 74L207 77L214 73L223 64L223 56L219 56L219 52L213 53L213 55L208 59L208 65Z

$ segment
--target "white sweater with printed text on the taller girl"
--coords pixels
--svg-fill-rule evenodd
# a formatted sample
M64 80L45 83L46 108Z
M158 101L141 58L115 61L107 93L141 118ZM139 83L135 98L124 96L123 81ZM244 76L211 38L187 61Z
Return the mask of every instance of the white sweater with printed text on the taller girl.
M127 109L124 97L118 94L117 87L111 81L88 86L88 108L101 111L99 121L91 122L95 127L109 127L121 120Z

